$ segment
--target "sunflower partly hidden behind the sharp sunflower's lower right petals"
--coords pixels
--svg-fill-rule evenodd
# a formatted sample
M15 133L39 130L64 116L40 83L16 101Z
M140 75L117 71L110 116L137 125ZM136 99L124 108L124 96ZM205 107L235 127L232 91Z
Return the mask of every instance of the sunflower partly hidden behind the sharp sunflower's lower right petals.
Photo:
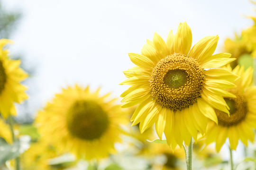
M232 70L230 66L226 67ZM253 69L237 66L233 73L241 76L235 81L236 88L228 89L236 98L224 97L229 105L230 117L221 110L215 110L219 125L210 121L206 130L206 143L216 142L216 150L219 152L221 146L229 137L231 149L236 150L238 140L247 146L247 141L254 141L253 128L256 128L256 86L251 87Z

